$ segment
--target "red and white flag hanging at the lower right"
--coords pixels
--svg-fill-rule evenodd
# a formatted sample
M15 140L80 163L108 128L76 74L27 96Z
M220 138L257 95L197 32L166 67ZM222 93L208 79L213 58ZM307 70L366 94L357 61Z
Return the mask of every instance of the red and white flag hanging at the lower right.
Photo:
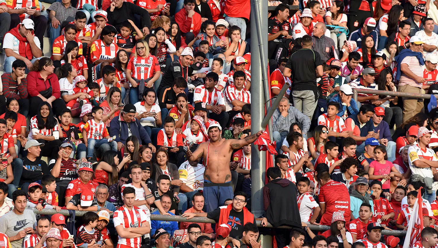
M421 239L421 231L423 225L423 200L421 199L421 189L418 189L417 200L412 208L412 213L409 218L408 230L406 232L406 239L403 243L403 248L410 248L413 244ZM409 238L408 238L409 237Z

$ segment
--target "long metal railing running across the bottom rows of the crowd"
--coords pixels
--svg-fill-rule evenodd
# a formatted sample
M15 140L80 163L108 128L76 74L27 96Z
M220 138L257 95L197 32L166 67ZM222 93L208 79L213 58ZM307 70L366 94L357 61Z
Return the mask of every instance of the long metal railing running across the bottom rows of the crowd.
M54 209L42 209L41 211L37 210L36 208L29 208L32 210L35 214L44 214L44 215L53 215L55 213L58 213ZM75 215L78 217L81 217L85 213L89 211L75 211ZM68 213L68 210L60 210L60 214L64 216L70 216L70 213ZM97 213L97 212L95 212ZM111 217L113 214L111 213ZM193 222L193 223L210 223L210 224L216 224L215 220L208 219L206 217L193 217L190 220L187 220L185 217L181 217L179 215L160 215L160 214L151 214L151 220L163 220L163 221L177 221L177 222ZM262 227L261 221L257 220L257 226ZM325 225L308 225L309 228L312 231L327 231L330 229L329 226ZM275 228L270 223L266 227ZM291 227L277 227L277 228L285 228L285 229L291 229ZM397 231L397 230L383 230L382 234L384 235L393 235L393 236L406 236L406 231Z

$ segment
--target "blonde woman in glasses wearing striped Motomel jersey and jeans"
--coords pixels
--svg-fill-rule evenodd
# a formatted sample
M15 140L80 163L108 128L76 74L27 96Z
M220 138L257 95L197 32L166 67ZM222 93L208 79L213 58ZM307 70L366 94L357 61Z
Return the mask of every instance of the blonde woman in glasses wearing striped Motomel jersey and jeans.
M135 104L140 101L138 95L138 80L144 79L146 87L152 88L159 79L160 66L157 57L149 53L149 45L145 40L139 40L135 44L134 56L129 59L126 66L126 79L131 84L129 90L129 102Z

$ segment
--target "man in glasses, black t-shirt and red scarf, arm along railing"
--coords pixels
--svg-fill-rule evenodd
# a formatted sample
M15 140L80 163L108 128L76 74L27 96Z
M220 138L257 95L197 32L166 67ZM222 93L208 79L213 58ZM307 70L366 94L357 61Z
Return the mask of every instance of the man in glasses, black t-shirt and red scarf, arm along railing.
M187 220L193 217L207 217L216 221L216 228L221 224L229 224L231 226L230 237L227 242L233 244L239 243L236 240L237 236L242 236L244 225L247 223L255 223L254 214L245 207L247 205L247 195L244 192L236 192L233 197L233 204L221 206L208 213L183 213L183 217Z

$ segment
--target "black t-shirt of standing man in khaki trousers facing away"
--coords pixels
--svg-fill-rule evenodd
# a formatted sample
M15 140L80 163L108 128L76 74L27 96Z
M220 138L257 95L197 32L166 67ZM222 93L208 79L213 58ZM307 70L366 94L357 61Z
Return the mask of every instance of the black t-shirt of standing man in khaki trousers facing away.
M291 71L293 91L317 91L316 67L322 65L321 56L312 49L294 52L286 63Z

